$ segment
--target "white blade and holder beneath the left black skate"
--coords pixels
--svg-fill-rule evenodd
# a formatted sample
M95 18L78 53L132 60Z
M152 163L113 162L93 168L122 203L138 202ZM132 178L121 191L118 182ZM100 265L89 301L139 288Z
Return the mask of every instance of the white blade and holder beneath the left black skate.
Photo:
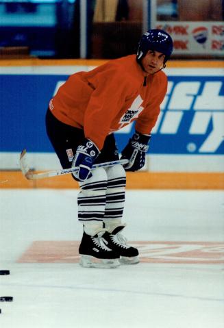
M84 268L117 268L120 262L118 259L97 259L90 255L81 255L79 264Z

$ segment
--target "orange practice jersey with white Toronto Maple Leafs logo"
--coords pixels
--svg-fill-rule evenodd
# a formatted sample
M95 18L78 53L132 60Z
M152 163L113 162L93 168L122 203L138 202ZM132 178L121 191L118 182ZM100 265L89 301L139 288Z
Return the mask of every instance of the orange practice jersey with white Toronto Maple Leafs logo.
M149 134L155 125L167 78L160 71L144 81L136 55L127 55L71 75L49 108L62 123L84 129L86 138L102 149L108 134L132 121L141 134Z

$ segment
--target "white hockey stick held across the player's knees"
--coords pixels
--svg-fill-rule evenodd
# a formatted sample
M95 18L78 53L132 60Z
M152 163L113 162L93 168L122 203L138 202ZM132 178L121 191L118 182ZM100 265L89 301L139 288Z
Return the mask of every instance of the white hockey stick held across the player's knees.
M55 177L57 175L71 174L71 173L77 172L79 170L79 168L73 167L73 168L63 168L62 170L57 170L57 171L34 173L27 165L26 154L27 154L27 151L25 149L23 149L19 162L20 162L20 166L21 166L21 171L28 180L37 180L37 179L44 179L46 177ZM112 161L112 162L104 162L104 163L95 164L92 166L92 168L108 167L108 166L113 166L116 164L123 165L123 164L127 164L127 163L128 163L128 160L116 160L116 161Z

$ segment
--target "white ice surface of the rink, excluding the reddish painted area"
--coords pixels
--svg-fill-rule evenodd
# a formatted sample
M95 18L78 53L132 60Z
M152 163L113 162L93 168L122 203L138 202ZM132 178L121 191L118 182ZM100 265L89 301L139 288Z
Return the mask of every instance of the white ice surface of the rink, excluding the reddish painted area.
M77 190L0 190L1 328L223 328L223 264L116 269L18 263L35 240L80 240ZM224 193L128 190L132 241L224 242Z

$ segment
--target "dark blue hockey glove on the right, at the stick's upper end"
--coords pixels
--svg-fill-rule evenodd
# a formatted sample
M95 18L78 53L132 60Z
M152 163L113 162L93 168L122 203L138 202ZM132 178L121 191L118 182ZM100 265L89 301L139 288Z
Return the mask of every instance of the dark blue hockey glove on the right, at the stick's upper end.
M125 171L138 171L145 164L145 153L149 149L151 134L136 133L129 139L125 149L121 152L121 160L127 159L129 162L124 165Z

